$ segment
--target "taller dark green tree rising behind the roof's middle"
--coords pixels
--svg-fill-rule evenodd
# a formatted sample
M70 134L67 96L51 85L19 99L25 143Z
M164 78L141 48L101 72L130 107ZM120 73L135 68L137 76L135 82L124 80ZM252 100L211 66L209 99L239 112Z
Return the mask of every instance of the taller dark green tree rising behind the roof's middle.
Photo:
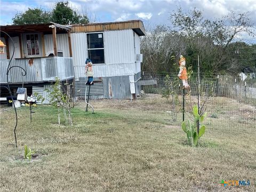
M79 15L68 6L68 2L58 2L52 11L52 21L61 25L86 24L89 19L86 15Z

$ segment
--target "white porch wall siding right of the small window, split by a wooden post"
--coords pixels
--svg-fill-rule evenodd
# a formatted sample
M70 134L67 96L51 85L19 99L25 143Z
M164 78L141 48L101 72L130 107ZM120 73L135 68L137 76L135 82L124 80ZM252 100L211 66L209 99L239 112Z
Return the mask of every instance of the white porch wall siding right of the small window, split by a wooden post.
M57 34L57 51L63 52L63 57L69 57L68 34ZM45 56L53 51L52 35L44 35Z

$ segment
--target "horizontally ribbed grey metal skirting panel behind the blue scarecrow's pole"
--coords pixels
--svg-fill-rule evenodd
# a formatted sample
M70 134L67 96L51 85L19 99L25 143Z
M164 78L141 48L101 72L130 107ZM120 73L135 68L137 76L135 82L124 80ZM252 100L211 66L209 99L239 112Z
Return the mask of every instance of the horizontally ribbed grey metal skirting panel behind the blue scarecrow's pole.
M79 98L85 98L85 90L86 90L86 81L77 81L75 82L75 91L76 91L76 97ZM89 92L89 86L87 85L86 90L86 97ZM103 83L94 83L94 85L91 85L90 90L90 99L103 99Z

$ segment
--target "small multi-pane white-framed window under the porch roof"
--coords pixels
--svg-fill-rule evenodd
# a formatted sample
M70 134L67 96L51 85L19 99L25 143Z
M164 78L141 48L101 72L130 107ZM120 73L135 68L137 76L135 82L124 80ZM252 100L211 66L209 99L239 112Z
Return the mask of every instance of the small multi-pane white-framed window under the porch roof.
M39 55L39 38L38 34L27 34L26 35L27 54Z

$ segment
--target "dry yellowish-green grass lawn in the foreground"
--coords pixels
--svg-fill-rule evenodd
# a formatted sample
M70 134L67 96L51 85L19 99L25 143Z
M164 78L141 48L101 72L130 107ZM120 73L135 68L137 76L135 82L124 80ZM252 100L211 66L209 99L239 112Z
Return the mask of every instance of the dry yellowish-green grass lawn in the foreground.
M2 107L0 191L256 191L255 107L213 98L193 148L164 99L91 103L95 114L73 109L73 126L58 126L51 106L35 107L31 123L29 108L18 108L18 148L7 147L15 116ZM24 145L37 150L30 162Z

